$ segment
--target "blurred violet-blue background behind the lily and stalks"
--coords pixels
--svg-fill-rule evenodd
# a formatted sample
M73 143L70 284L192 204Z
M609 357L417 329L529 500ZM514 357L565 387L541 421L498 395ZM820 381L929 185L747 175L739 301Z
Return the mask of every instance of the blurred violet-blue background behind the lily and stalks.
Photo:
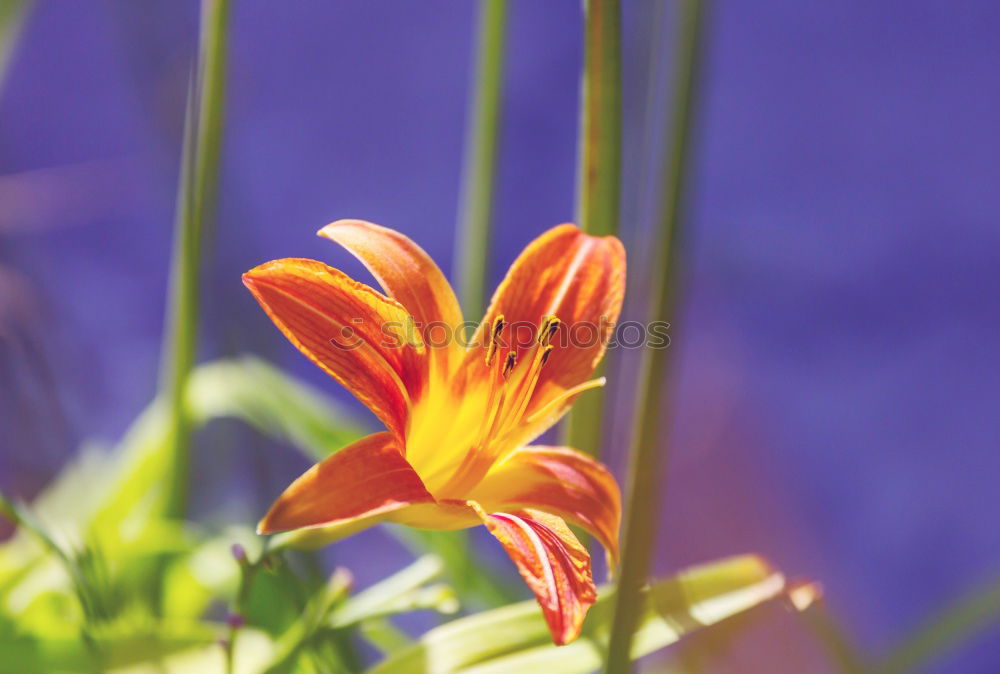
M202 355L260 355L366 414L283 341L239 275L303 256L367 278L314 236L341 217L398 228L451 268L475 4L233 4ZM633 315L658 198L662 92L647 78L670 19L656 4L624 3ZM118 439L155 393L197 14L193 0L42 0L12 55L0 91L11 493L30 497L81 443ZM581 28L576 0L512 3L495 279L573 217ZM658 572L760 552L820 580L876 653L1000 573L998 35L990 0L713 4ZM619 474L634 356L610 388ZM255 521L305 465L216 424L198 439L197 511ZM367 584L407 553L372 531L329 554ZM824 671L782 620L717 671ZM998 637L932 671L1000 671Z

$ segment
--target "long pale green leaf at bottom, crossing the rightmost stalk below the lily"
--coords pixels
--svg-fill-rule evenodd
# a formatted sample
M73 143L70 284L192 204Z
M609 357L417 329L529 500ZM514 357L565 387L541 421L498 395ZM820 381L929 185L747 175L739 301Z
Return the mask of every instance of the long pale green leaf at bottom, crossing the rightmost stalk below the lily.
M783 576L754 555L703 564L654 583L642 593L632 658L774 599L782 595L784 588ZM541 610L534 601L527 601L435 628L372 672L582 674L594 671L604 661L614 595L614 587L601 593L584 624L583 634L567 646L552 644Z

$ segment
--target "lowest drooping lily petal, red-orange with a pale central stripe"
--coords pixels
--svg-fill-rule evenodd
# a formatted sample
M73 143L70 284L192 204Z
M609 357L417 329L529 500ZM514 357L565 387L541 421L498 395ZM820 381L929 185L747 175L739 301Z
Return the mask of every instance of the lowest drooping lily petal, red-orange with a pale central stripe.
M487 514L474 502L470 506L535 593L552 640L558 646L573 641L597 599L587 549L555 515L529 509Z

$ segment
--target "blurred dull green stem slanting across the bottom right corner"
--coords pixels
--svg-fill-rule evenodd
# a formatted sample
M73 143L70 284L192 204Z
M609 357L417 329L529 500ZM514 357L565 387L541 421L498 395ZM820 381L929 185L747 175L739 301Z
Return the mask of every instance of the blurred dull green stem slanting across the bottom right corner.
M875 671L903 674L922 670L943 653L1000 620L1000 578L955 602L908 637Z

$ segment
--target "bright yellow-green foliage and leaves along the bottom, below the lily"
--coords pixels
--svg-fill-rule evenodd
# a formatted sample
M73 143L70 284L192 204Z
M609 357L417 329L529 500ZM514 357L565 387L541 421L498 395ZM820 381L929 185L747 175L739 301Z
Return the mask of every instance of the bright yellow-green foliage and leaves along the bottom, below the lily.
M196 426L223 416L244 419L314 458L364 433L331 400L253 359L197 368L185 400ZM459 564L466 578L486 575L464 545L449 547L443 535L418 545L440 547L450 562L421 556L352 596L345 571L323 578L308 556L268 550L246 528L211 532L170 519L158 505L169 428L154 401L117 447L85 448L30 510L0 502L0 511L19 524L0 546L5 664L18 671L101 671L140 662L167 672L355 671L358 638L389 654L377 671L425 671L422 663L434 663L427 671L449 663L531 671L551 662L554 647L534 601L461 618L418 642L392 626L389 619L400 613L453 614L459 597L478 591L473 582L460 593L442 582ZM240 559L233 544L244 551ZM657 584L644 595L640 651L780 591L780 576L756 558ZM613 594L613 588L602 594L584 637L558 650L573 671L597 666L595 644L606 641ZM247 626L220 622L230 612Z

